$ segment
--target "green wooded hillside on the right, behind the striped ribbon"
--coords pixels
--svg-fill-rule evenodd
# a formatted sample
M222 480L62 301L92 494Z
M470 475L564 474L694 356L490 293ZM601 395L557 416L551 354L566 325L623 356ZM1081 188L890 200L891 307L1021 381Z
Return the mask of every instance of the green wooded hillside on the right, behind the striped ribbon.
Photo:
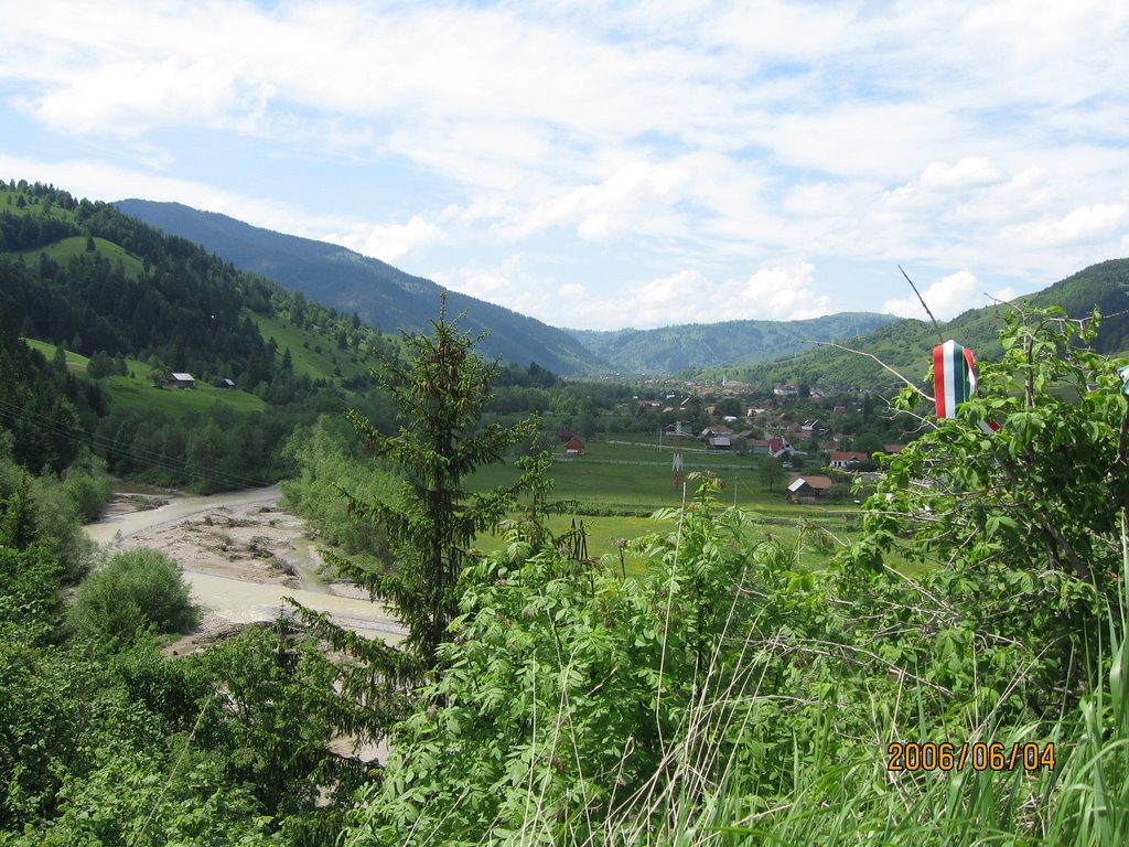
M1089 315L1094 307L1108 315L1102 321L1095 348L1105 353L1129 349L1129 259L1113 259L1091 265L1042 291L1016 303L1031 306L1059 306L1070 317ZM1006 305L969 309L942 324L946 339L971 348L977 359L998 359L1003 350L997 335ZM931 365L937 332L926 321L898 321L846 343L870 353L910 379L922 379ZM898 377L874 359L846 350L821 347L789 359L756 365L743 378L759 385L805 383L842 387L893 387Z

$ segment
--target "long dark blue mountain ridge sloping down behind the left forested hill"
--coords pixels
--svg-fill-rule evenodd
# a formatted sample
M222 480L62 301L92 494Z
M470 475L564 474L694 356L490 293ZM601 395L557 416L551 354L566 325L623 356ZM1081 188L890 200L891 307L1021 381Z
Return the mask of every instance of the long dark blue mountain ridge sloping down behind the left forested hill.
M122 200L122 212L149 226L195 242L236 268L261 273L291 291L356 313L386 332L428 331L439 308L436 282L362 256L335 244L282 235L181 203ZM481 349L506 361L535 361L558 374L598 367L595 357L568 333L502 306L456 291L448 292L448 312L466 309L463 329L490 330Z

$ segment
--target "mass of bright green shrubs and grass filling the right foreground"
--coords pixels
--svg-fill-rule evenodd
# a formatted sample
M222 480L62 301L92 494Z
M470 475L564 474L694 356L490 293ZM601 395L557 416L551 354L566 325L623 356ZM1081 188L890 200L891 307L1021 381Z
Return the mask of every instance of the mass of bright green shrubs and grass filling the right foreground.
M1017 312L825 569L708 480L639 579L518 526L344 842L1126 844L1129 412L1093 323ZM891 769L946 741L1054 763Z

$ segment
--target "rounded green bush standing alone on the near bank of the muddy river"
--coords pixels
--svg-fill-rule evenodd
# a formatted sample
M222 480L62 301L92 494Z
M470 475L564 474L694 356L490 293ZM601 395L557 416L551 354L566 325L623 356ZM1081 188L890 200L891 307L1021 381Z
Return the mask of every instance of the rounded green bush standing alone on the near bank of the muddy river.
M196 622L181 567L157 550L129 550L114 556L78 591L73 621L81 634L132 641L138 630L183 632Z

